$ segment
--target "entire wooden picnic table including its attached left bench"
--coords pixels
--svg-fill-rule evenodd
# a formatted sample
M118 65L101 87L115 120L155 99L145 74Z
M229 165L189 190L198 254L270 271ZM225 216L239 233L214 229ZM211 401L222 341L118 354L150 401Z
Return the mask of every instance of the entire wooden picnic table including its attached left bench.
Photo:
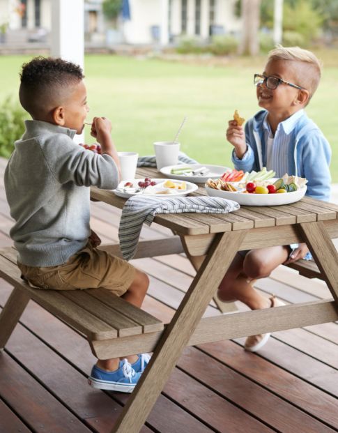
M139 170L139 177L157 175L153 169ZM199 188L197 194L203 195L205 191ZM117 208L123 208L125 203L111 191L92 188L91 195L93 199ZM335 204L305 198L287 206L243 206L226 215L156 215L154 222L168 227L176 235L168 239L141 241L135 258L184 250L197 269L187 294L166 326L105 290L60 292L33 289L20 278L15 250L0 250L0 276L14 286L0 316L0 348L6 344L32 298L84 333L93 354L100 359L154 352L118 418L113 430L118 433L139 432L186 345L338 319L338 255L331 241L331 238L338 237L338 206ZM309 246L333 299L201 318L238 250L298 242L306 242ZM103 245L101 248L118 252L116 245Z

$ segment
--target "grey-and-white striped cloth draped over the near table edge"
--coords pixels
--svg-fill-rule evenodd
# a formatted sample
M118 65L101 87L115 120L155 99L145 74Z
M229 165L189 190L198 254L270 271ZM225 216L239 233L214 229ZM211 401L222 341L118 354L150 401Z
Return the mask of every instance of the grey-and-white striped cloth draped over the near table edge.
M151 225L156 213L228 213L237 211L240 205L219 197L176 197L163 199L134 195L122 210L118 238L123 259L134 257L143 223Z

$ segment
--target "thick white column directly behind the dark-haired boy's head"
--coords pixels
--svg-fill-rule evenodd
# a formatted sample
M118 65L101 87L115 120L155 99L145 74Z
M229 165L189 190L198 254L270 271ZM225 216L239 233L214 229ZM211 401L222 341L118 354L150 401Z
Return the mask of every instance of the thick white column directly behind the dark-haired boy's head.
M84 0L52 1L51 54L84 68Z

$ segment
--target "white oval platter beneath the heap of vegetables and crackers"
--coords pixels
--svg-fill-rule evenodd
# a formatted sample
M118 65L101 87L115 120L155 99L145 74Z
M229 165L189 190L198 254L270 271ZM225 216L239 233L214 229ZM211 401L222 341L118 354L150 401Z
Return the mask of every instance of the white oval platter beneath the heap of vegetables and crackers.
M233 200L238 204L243 204L244 206L279 206L281 204L290 204L298 202L305 196L307 192L307 186L303 186L297 191L284 192L284 194L247 194L245 192L230 192L221 191L210 188L206 186L206 192L208 195L213 197L222 197L224 199Z

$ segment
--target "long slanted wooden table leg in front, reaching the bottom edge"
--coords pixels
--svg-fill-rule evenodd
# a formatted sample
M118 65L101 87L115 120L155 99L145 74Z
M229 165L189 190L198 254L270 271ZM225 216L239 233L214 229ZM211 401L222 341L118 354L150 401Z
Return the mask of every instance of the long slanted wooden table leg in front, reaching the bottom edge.
M246 231L217 234L176 314L164 331L112 433L137 433L174 370L210 299L235 257Z

